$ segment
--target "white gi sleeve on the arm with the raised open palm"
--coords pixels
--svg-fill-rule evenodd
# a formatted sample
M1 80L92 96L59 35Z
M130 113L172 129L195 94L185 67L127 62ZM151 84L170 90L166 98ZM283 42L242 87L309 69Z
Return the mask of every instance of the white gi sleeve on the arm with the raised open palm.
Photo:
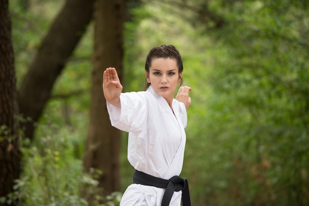
M120 94L121 108L107 102L112 126L125 132L142 131L147 122L147 98L141 92Z

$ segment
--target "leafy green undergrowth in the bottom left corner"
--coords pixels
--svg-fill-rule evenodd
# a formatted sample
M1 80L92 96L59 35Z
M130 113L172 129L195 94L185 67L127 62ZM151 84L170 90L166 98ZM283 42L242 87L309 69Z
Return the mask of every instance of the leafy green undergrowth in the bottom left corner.
M119 205L121 193L102 197L95 179L100 171L82 172L82 161L74 155L77 133L56 125L39 124L37 129L42 136L36 142L22 142L24 172L15 181L16 191L1 197L0 202L21 201L22 205L33 206ZM95 197L93 202L89 197Z

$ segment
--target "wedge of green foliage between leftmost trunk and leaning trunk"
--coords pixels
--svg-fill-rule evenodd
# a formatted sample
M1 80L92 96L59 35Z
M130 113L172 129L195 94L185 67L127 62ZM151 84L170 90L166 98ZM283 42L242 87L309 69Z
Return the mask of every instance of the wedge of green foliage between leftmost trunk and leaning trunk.
M35 1L25 11L20 1L9 1L12 19L12 39L14 45L17 87L39 48L39 43L64 1ZM52 9L51 9L52 8Z

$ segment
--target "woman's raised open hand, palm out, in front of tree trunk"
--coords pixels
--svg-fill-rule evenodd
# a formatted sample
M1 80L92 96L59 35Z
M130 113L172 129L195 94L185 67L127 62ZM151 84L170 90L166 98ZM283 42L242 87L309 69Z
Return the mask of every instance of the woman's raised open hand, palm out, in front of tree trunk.
M103 92L107 102L120 108L122 85L115 68L107 68L103 74Z

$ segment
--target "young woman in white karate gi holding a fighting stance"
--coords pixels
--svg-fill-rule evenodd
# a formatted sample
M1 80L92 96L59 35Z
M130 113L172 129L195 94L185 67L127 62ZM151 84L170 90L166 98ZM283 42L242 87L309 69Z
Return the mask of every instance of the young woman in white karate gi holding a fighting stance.
M145 64L147 90L122 93L115 68L104 71L103 91L111 123L129 133L128 160L136 169L120 206L190 206L188 182L181 178L191 104L182 84L183 63L173 45L150 50ZM185 197L185 198L184 198Z

